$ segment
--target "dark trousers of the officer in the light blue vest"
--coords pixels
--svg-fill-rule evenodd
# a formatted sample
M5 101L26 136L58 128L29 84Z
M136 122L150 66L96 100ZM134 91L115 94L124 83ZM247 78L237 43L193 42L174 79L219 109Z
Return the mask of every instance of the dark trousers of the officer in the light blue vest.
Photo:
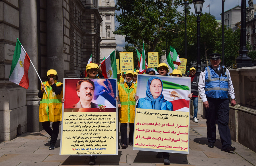
M216 141L216 119L218 120L218 129L222 149L226 150L231 146L231 135L228 127L229 120L229 105L228 99L214 99L207 97L209 108L206 109L206 125L208 142L215 143Z

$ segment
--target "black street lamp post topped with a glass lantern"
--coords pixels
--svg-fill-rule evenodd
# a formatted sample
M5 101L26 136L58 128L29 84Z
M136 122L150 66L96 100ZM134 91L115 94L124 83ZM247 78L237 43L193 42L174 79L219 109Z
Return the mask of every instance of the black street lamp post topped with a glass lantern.
M202 14L204 0L193 0L196 16L197 16L197 65L196 65L196 74L199 76L201 72L201 58L200 58L200 16Z

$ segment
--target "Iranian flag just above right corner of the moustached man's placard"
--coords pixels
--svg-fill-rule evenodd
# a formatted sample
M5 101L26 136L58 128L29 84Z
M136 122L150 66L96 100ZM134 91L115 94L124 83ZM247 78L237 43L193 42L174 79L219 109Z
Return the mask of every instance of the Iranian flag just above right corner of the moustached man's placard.
M115 51L101 63L101 70L105 79L117 79Z

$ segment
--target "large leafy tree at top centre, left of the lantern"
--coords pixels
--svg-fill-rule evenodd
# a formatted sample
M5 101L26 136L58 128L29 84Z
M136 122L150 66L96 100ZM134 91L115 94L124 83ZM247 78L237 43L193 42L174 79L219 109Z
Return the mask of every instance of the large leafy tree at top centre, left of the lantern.
M183 31L178 24L184 19L184 13L177 11L182 3L182 0L117 0L116 10L122 12L116 14L120 26L114 34L124 35L125 41L136 48L138 41L145 37L148 52L163 50L165 47L159 44L165 41L163 36Z

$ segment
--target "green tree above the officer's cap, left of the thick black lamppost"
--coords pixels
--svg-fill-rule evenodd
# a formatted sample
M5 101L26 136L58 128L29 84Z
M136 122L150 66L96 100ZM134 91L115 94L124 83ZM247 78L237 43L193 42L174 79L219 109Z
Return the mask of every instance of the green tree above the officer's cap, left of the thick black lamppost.
M240 49L240 29L236 29L235 32L230 28L224 28L224 61L228 68L231 68L235 63L235 59L238 57ZM217 41L214 47L214 53L222 54L222 26L217 29ZM222 58L221 58L222 60Z

